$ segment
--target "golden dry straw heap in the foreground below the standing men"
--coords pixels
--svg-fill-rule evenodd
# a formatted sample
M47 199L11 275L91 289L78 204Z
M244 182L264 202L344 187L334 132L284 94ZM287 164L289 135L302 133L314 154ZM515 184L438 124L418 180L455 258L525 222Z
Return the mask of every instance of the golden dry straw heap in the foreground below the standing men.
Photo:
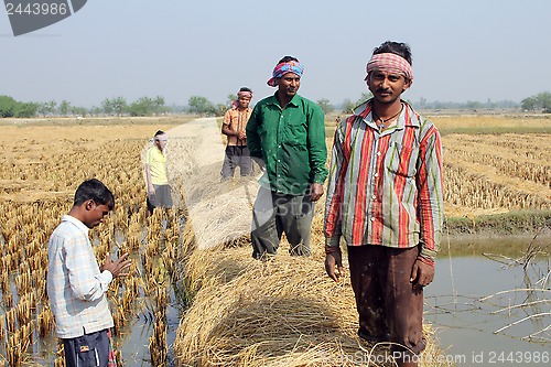
M322 246L311 258L280 253L269 261L248 247L195 251L184 271L196 289L174 344L179 366L392 366L386 345L356 336L349 278L325 274ZM421 366L445 360L425 330Z

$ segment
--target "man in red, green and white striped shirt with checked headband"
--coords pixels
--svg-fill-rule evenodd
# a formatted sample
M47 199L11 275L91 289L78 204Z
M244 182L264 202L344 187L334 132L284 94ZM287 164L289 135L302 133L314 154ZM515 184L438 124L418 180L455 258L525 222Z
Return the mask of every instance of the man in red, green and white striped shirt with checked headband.
M407 44L375 48L365 80L374 97L335 131L325 269L338 280L343 237L358 335L392 342L399 366L418 366L425 347L423 287L434 278L443 224L440 133L400 98L413 80Z

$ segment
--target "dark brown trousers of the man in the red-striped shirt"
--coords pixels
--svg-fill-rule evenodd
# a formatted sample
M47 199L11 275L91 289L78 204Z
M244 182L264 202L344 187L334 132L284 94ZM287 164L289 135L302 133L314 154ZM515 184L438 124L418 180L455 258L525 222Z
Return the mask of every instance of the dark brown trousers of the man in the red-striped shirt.
M396 352L419 354L424 349L423 290L413 289L410 282L418 255L418 247L348 246L358 335L363 338L393 342L398 344L391 347Z

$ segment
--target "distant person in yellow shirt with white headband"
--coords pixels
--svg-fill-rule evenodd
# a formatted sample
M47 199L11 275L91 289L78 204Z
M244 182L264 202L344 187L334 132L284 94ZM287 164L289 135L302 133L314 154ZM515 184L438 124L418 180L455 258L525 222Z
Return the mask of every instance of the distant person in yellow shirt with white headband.
M172 207L171 186L166 171L164 148L169 136L159 130L153 138L154 144L145 154L145 182L148 185L148 212L153 214L155 207Z

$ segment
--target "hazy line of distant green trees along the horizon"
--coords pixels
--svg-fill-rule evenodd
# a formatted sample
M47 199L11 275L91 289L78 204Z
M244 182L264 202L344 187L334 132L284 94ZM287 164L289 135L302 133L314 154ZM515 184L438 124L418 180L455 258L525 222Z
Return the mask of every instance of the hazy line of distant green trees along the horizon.
M361 102L371 97L370 93L364 93L359 99L345 99L339 105L333 105L327 98L316 100L325 114L331 114L336 110L343 114L348 114ZM114 97L104 99L99 106L91 108L73 106L68 100L57 102L48 100L45 102L23 102L18 101L10 96L0 96L0 117L20 117L28 118L34 116L159 116L165 114L194 114L201 116L224 116L226 110L231 105L231 101L237 99L237 96L229 94L225 104L213 104L206 97L192 96L187 101L187 106L168 106L164 97L141 97L129 102L125 97ZM520 104L503 100L486 102L466 101L466 102L444 102L444 101L428 101L420 98L413 102L419 109L518 109L523 111L541 111L551 114L551 93L543 91L537 95L522 99Z

